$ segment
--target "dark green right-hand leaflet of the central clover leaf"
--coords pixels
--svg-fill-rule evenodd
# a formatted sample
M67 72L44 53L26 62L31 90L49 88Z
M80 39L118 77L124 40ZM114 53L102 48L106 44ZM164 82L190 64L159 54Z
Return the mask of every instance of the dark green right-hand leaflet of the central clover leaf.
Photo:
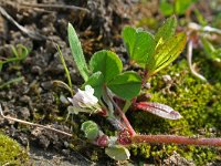
M141 77L135 72L125 72L108 82L107 86L118 96L130 100L139 94Z

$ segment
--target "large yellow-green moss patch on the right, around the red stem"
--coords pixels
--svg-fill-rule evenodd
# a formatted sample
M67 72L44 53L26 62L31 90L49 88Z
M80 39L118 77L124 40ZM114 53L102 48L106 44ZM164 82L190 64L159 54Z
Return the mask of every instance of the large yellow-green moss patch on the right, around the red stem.
M164 103L178 111L182 118L168 121L146 112L133 112L129 117L133 126L141 134L176 134L185 136L220 137L221 133L221 72L202 58L197 58L200 72L209 80L203 83L192 76L186 60L164 70L151 77L151 102ZM203 68L202 68L203 66ZM165 83L162 75L170 75L171 82ZM137 157L168 157L173 151L196 165L203 165L219 156L218 148L158 145L149 148L138 145L131 148Z

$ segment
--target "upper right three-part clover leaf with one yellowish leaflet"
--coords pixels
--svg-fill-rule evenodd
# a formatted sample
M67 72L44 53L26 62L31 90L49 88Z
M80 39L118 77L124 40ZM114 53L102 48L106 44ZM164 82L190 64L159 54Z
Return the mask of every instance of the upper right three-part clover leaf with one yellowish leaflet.
M177 20L169 18L156 35L126 27L123 38L130 60L145 69L151 76L170 64L183 50L187 38L185 33L175 34Z

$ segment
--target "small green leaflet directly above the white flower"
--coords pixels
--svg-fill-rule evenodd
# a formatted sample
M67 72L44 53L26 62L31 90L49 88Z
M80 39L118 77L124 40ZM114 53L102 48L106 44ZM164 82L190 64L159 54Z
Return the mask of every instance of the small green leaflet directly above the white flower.
M102 87L104 85L104 75L102 72L93 73L83 87L85 85L91 85L94 89L94 95L99 98L102 95Z

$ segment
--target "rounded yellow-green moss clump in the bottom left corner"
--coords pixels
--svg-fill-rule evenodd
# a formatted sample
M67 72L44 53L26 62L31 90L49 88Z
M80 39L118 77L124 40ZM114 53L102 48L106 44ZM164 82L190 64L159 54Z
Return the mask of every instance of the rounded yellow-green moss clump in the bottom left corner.
M12 138L0 134L0 165L28 165L28 153Z

